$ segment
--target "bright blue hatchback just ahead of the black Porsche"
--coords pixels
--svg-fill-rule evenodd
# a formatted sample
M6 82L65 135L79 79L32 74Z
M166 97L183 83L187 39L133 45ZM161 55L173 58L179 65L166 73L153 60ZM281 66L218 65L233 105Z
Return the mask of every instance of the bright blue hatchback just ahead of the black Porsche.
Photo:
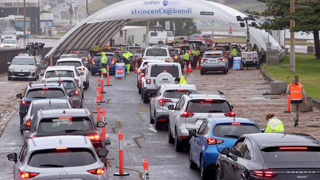
M190 130L189 166L200 167L201 179L214 172L220 150L232 148L243 134L260 133L254 120L244 118L212 118L204 120L198 131Z

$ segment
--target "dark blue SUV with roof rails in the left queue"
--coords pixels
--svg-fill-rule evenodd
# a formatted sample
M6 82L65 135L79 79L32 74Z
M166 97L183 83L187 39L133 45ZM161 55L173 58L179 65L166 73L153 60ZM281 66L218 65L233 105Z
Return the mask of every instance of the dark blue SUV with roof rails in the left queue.
M74 91L70 91L68 94L61 82L30 82L23 95L22 93L16 95L21 99L19 106L20 125L23 124L31 101L48 98L68 99L72 105L69 96L73 95L75 95Z

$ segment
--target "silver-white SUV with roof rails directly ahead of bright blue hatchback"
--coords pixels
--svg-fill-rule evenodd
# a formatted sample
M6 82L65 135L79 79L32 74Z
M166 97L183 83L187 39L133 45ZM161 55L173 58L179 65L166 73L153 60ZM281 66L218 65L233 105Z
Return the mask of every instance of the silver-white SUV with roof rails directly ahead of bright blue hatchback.
M221 91L188 91L176 106L169 105L168 142L176 151L182 151L187 144L189 130L198 129L208 118L235 117L232 106Z

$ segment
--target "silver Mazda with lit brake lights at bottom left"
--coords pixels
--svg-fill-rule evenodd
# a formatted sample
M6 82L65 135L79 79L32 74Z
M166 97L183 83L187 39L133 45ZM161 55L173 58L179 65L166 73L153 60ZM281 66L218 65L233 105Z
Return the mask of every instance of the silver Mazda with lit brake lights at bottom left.
M108 150L97 152L86 136L51 136L28 139L14 161L14 180L109 180L107 166L100 159Z

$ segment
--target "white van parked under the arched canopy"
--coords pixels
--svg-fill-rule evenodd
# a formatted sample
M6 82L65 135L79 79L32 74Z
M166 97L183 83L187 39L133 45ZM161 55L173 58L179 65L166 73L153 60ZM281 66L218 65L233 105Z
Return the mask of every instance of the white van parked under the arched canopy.
M173 44L174 36L172 31L149 31L149 44Z

